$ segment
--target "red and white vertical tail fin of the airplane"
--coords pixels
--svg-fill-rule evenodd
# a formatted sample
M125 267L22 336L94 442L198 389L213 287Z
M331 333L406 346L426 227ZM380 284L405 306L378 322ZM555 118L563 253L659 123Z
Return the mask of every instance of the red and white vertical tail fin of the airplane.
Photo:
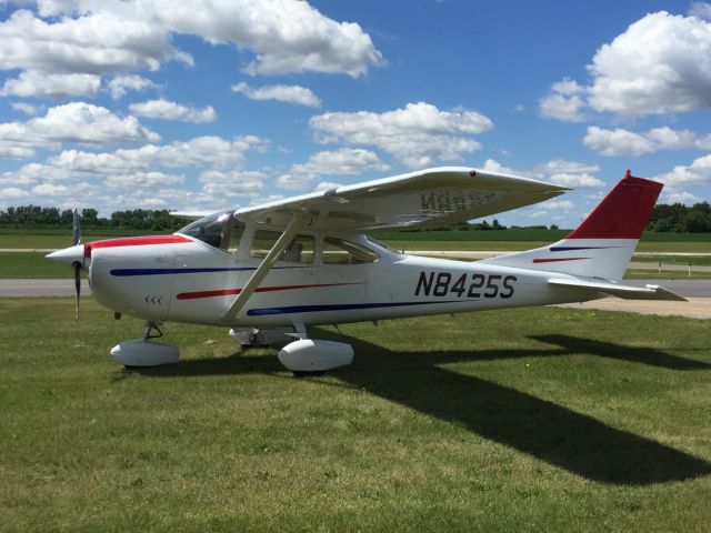
M562 241L482 262L619 281L632 259L662 187L657 181L633 178L628 170L578 229Z

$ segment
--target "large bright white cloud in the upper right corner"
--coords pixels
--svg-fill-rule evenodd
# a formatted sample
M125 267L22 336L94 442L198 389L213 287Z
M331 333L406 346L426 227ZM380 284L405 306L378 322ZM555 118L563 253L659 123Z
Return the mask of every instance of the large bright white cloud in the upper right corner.
M711 21L708 4L694 16L649 13L595 52L589 86L564 79L539 101L542 117L569 122L585 110L637 118L711 107ZM639 140L632 141L638 144Z

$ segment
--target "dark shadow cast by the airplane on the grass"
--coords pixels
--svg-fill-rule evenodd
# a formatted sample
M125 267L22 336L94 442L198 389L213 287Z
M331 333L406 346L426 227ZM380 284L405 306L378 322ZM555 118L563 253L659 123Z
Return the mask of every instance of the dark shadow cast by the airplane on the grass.
M319 336L331 336L322 333ZM678 371L711 369L705 363L653 349L628 348L560 334L532 339L551 348L400 352L347 338L346 342L353 345L357 356L351 366L333 371L332 374L380 398L457 423L485 439L589 480L647 485L711 473L711 463L679 450L611 428L591 416L515 389L440 368L457 362L587 353ZM276 358L236 355L184 361L172 368L143 372L170 376L282 371Z

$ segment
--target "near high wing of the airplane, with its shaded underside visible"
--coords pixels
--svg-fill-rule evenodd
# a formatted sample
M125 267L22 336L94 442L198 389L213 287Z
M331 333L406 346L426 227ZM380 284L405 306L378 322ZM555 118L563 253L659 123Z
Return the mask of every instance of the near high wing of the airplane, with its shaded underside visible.
M447 225L557 197L568 189L468 168L428 169L328 191L240 208L241 221L287 225L296 211L312 224L350 231Z

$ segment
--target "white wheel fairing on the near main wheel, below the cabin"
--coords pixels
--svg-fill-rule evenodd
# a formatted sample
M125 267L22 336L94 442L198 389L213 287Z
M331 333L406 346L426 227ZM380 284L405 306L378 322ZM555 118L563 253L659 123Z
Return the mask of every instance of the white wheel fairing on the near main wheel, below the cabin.
M334 341L301 339L279 352L279 361L292 372L323 372L353 361L353 348Z

